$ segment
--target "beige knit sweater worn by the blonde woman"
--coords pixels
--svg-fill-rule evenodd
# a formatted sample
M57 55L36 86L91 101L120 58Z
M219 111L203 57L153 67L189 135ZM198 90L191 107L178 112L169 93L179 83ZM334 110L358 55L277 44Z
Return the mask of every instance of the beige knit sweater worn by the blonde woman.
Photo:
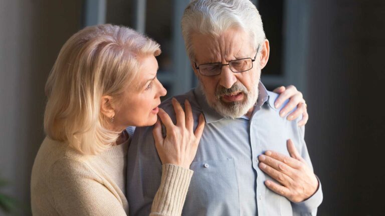
M85 156L45 138L32 169L33 215L128 215L128 141ZM192 175L190 169L163 164L150 215L180 215Z

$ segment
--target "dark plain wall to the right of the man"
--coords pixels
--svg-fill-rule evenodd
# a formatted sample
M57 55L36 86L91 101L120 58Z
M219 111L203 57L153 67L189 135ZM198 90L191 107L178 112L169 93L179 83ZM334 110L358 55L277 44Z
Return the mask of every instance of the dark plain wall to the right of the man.
M312 4L306 141L319 215L385 215L385 1Z

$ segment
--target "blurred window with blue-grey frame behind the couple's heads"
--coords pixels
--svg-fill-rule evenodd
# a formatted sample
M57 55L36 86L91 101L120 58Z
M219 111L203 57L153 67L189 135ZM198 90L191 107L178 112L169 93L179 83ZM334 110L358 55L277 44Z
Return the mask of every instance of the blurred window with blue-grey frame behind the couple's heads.
M306 91L308 3L303 0L251 0L260 11L270 57L261 80L268 89L294 84ZM132 27L160 43L158 79L167 96L198 83L184 50L180 20L189 0L84 0L85 25ZM166 96L166 97L167 97Z

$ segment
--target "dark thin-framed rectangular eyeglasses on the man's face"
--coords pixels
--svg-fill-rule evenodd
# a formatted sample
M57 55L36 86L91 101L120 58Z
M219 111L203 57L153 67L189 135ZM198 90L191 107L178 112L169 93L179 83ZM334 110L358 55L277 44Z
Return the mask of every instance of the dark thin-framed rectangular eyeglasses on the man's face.
M227 64L223 63L205 63L205 64L199 64L197 66L197 63L195 63L195 68L201 73L201 75L204 76L215 76L219 75L222 72L222 66L229 65L230 70L233 72L244 72L251 68L253 68L253 62L255 61L257 54L259 51L259 45L257 48L257 53L255 53L254 59L251 57L248 58L240 58L229 61Z

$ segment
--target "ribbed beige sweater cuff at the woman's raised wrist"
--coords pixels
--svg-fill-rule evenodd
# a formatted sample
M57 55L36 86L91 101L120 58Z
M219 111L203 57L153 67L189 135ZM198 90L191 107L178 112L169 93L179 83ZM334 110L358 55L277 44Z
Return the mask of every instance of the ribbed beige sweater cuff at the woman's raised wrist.
M174 164L162 165L160 186L151 206L151 216L181 215L194 171Z

